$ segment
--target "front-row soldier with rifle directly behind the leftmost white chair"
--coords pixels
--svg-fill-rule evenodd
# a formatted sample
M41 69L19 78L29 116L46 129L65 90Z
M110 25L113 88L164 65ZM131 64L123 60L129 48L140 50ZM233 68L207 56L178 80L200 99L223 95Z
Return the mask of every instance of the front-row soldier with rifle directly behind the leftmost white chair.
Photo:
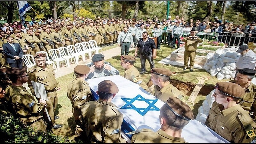
M27 30L27 35L24 36L26 44L29 45L28 47L28 54L34 55L36 52L40 52L38 43L41 43L41 40L39 40L35 35L34 31L32 29Z

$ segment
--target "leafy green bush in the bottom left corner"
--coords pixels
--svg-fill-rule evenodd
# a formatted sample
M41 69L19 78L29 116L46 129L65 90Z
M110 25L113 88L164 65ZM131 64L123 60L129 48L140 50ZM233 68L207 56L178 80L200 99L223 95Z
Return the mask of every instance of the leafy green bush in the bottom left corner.
M2 114L0 116L1 143L75 143L68 137L55 135L52 132L36 131L26 126L13 116Z

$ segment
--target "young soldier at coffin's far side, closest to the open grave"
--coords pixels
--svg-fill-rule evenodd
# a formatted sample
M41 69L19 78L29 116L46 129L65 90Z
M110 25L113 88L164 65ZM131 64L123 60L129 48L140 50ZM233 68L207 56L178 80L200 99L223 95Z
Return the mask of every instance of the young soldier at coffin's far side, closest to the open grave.
M150 72L150 79L153 84L155 84L154 96L163 102L168 100L169 97L177 97L181 101L186 102L185 94L170 84L170 76L172 76L170 70L165 68L152 68Z

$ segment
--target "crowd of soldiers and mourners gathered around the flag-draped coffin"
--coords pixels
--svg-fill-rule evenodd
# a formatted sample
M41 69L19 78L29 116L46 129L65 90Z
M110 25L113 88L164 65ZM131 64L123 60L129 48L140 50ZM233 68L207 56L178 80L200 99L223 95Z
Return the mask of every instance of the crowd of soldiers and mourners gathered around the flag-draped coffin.
M133 134L132 142L186 143L181 137L181 132L184 126L194 119L194 115L186 104L185 94L170 84L172 71L166 68L155 68L153 58L156 57L157 49L160 49L163 35L172 48L176 48L175 41L178 40L177 48L179 48L180 38L188 30L190 36L182 39L187 51L184 70L188 68L188 60L190 60L190 71L193 71L195 49L197 43L202 42L202 39L195 34L209 30L209 28L211 32L218 32L220 24L223 26L229 22L224 23L215 17L215 21L211 22L213 24L211 27L206 26L206 22L203 22L201 27L200 20L196 20L195 25L193 20L190 20L187 25L184 18L179 19L179 16L176 16L174 20L168 17L168 20L162 21L159 21L157 17L152 20L148 18L146 21L143 19L123 20L117 17L110 20L100 17L96 20L75 17L73 21L70 18L66 20L44 19L42 23L32 18L31 22L25 22L25 28L22 28L17 21L12 26L4 24L0 31L2 53L0 100L1 105L4 105L1 108L11 111L10 113L20 118L21 122L31 125L36 130L47 132L47 129L62 127L62 124L55 122L59 116L54 115L58 104L56 91L61 90L60 85L55 78L52 66L46 64L45 53L36 52L48 52L50 49L88 40L95 40L100 46L110 46L115 43L121 46L120 65L125 69L124 77L147 91L148 86L140 74L146 73L145 62L148 60L150 79L155 84L153 95L165 102L160 109L160 129L157 132L148 129L136 130L131 133ZM254 23L249 29L252 27ZM164 30L167 31L165 34ZM156 43L150 37L155 37ZM129 55L127 49L130 46L136 46L134 56ZM247 45L241 45L237 52L243 56L251 54L248 53ZM33 55L36 65L31 68L23 67L20 60L23 53ZM141 72L134 67L138 55ZM250 56L253 60L254 55ZM243 62L245 60L241 58L240 64ZM256 120L248 114L256 109L253 105L256 98L252 88L255 86L250 83L249 89L250 85L242 87L241 83L241 79L246 79L246 76L250 76L248 79L251 80L255 77L256 56L255 60L250 62L252 67L237 69L235 82L216 83L216 91L213 95L216 102L213 103L205 122L206 126L232 143L248 143L255 137ZM7 63L11 68L8 68ZM246 76L242 77L240 74ZM110 80L101 81L96 92L99 99L92 100L92 91L86 81L111 75L119 75L119 71L111 63L105 61L101 53L94 54L90 64L77 65L74 68L76 78L68 84L67 95L72 104L72 113L76 122L75 140L83 140L86 143L126 142L121 137L123 114L112 103L112 99L119 91L118 86ZM33 86L33 82L44 84L48 101L35 99L36 87ZM22 86L24 83L28 83L31 93ZM243 104L250 104L250 106L244 108ZM42 111L43 116L39 113Z

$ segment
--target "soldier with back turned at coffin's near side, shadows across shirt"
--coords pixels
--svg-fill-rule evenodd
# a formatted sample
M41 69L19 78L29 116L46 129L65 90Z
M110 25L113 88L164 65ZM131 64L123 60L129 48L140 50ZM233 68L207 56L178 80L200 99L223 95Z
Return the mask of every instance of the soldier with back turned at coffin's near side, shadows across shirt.
M81 119L89 143L125 143L121 138L123 114L111 101L116 96L118 87L110 80L98 84L99 100L92 100L82 107Z

